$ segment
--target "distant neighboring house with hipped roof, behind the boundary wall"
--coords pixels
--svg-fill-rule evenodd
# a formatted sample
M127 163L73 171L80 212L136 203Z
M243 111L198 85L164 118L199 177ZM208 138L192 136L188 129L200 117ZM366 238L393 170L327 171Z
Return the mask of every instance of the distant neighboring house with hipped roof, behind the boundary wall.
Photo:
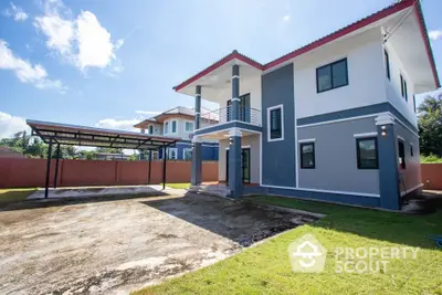
M209 113L209 110L208 110ZM217 123L217 118L207 119L209 123ZM192 143L191 136L194 129L194 110L188 107L178 106L166 110L155 117L145 119L136 125L141 133L152 135L165 135L180 137L175 147L167 148L168 159L175 160L191 160L192 159ZM202 160L218 160L218 143L206 140L202 143ZM162 159L162 150L154 152L152 159Z

